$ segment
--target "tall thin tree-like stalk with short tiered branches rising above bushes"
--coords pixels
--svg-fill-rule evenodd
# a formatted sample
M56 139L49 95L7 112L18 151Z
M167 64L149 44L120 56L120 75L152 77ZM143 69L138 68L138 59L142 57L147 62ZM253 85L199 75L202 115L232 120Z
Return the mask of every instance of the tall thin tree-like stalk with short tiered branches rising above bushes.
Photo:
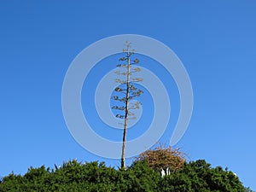
M123 49L125 56L120 58L120 64L117 65L119 67L119 71L116 72L118 75L123 75L125 79L115 79L120 86L115 88L115 91L121 94L121 96L116 95L113 96L113 100L124 103L125 105L115 105L112 108L119 110L123 113L117 113L116 117L120 119L124 119L124 132L123 132L123 145L122 145L122 154L121 154L121 168L125 168L125 144L126 144L126 131L128 125L128 119L136 119L134 113L131 111L134 109L140 108L141 103L136 102L133 105L129 105L130 101L143 94L143 90L137 89L136 83L143 81L143 79L131 78L133 73L140 72L139 67L132 67L133 64L138 64L138 59L131 59L131 55L134 54L134 49L131 49L131 43L126 42L125 49ZM123 96L122 96L123 94Z

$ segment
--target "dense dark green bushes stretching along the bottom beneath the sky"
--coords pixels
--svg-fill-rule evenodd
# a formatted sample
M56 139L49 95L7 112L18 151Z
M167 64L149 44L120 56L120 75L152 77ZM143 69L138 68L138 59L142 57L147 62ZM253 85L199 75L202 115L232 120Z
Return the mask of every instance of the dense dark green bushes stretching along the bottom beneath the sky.
M205 160L185 163L182 169L161 177L144 161L136 161L126 170L104 163L79 163L70 160L54 170L30 168L24 176L3 177L0 191L251 191L245 189L233 172L212 168Z

